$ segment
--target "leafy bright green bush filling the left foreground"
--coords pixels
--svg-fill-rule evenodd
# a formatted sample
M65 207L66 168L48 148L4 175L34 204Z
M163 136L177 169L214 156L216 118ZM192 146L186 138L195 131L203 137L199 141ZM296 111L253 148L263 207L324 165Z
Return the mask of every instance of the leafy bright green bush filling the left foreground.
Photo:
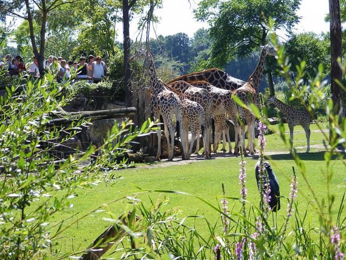
M62 225L62 221L58 229L51 229L54 216L73 208L77 188L113 181L114 173L104 169L121 168L127 161L119 165L109 158L123 155L130 142L152 124L145 122L140 131L129 121L120 127L115 124L101 147L95 150L89 146L84 153L77 151L56 161L51 152L71 140L87 122L74 118L63 127L49 124L71 98L61 98L65 86L54 83L52 75L20 87L13 85L0 99L0 259L50 259L58 250L51 252L49 248L53 244L60 247L56 237L70 225ZM95 163L81 168L80 163L99 149L103 153Z

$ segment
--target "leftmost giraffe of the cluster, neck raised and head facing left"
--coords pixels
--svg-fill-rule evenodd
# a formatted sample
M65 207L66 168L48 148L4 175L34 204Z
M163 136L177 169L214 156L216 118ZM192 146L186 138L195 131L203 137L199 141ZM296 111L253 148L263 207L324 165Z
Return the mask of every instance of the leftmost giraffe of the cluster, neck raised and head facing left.
M181 102L175 93L171 90L167 89L165 84L158 79L155 69L155 62L150 52L146 52L144 50L140 50L138 53L134 55L134 58L140 58L145 56L148 63L149 69L149 86L153 90L152 98L150 101L151 109L154 114L155 120L160 120L160 114L164 120L165 127L165 136L168 144L168 156L169 160L173 160L174 157L174 125L173 125L173 116L175 115L176 124L181 125L182 122L182 107ZM186 140L185 134L183 133L181 127L180 138L181 138L181 146L182 146L182 154L183 158L186 157ZM171 142L169 135L171 134ZM158 125L157 130L158 137L158 149L156 159L160 160L161 156L161 124Z

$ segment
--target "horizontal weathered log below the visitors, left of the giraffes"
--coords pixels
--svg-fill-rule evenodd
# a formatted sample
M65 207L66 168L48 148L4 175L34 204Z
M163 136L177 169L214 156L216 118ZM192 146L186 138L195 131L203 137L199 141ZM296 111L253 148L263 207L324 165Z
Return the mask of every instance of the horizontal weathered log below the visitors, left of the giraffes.
M94 120L101 119L112 119L120 117L130 117L132 118L136 114L137 109L135 107L127 108L114 108L106 110L96 110L96 111L81 111L81 112L62 112L57 114L57 116L63 116L61 118L54 118L47 122L46 125L63 125L70 124L73 121L77 121L81 118ZM64 117L65 116L65 117Z

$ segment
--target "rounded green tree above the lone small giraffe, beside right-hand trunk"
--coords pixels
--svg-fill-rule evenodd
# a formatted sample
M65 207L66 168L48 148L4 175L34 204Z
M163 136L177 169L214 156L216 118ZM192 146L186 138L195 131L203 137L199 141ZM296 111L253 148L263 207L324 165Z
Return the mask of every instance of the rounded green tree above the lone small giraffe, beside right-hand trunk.
M306 61L305 76L306 81L309 76L316 76L318 64L324 65L325 74L330 67L329 40L320 39L318 35L308 32L293 34L286 42L286 53L290 57L292 64L300 64L302 60ZM296 66L292 66L293 72L297 71Z

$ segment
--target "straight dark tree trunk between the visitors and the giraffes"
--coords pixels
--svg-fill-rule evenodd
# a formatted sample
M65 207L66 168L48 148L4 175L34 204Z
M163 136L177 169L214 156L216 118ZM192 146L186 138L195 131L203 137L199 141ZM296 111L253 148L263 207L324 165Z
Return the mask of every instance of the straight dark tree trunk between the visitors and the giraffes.
M126 106L132 106L131 70L130 70L130 6L129 0L123 0L123 30L124 30L124 88Z

